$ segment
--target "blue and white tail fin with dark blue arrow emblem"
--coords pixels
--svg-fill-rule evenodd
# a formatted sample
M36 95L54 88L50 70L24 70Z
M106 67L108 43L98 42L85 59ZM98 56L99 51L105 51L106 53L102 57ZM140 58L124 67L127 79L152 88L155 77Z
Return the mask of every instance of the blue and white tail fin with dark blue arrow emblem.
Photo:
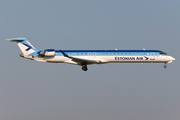
M26 56L39 51L38 49L34 48L25 37L17 37L7 40L11 40L11 42L16 42L22 53Z

